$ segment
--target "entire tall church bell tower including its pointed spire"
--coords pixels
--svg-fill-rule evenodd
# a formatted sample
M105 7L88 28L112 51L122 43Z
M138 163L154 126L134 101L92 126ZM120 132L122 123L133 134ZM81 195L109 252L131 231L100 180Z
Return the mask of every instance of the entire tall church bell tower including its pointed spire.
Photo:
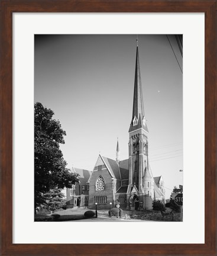
M127 190L127 207L131 209L133 196L138 196L140 205L145 204L144 184L145 170L148 169L148 127L144 114L142 84L140 73L140 60L137 52L135 60L134 98L132 119L129 126L129 185Z

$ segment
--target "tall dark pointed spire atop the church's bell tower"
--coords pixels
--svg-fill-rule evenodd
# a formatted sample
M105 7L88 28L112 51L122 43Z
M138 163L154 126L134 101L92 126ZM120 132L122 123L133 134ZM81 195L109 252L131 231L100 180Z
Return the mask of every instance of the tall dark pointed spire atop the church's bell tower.
M148 133L148 128L145 121L144 104L142 96L142 83L140 73L140 59L138 55L138 38L137 42L137 53L135 59L135 80L134 80L134 103L132 107L132 120L129 127L129 132L133 130L143 128Z

